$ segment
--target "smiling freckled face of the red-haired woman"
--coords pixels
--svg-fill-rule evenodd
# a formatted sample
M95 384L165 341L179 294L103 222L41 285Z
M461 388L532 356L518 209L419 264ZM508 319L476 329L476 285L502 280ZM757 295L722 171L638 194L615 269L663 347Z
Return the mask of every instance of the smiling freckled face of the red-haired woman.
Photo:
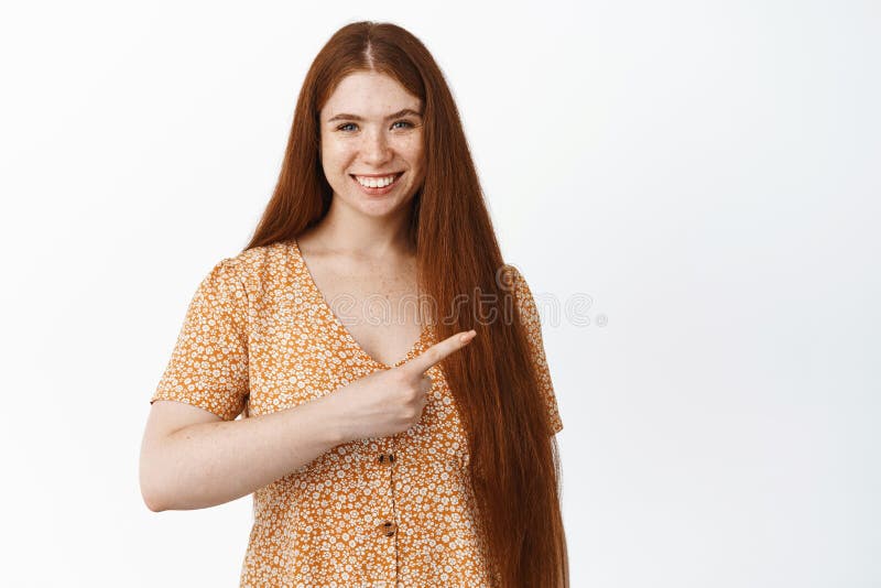
M339 83L319 117L335 204L374 217L409 205L425 177L420 112L421 100L384 74L357 72Z

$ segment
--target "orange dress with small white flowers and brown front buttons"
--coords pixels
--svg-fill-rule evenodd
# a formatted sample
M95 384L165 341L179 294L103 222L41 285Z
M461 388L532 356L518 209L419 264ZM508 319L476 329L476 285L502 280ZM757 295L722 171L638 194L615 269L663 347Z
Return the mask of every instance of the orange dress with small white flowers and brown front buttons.
M510 266L513 268L513 266ZM513 268L554 433L563 428L539 315ZM394 366L435 342L431 325ZM219 261L199 284L151 403L224 420L281 411L389 369L355 341L295 239ZM422 420L338 445L253 493L242 587L493 586L468 480L468 447L439 366Z

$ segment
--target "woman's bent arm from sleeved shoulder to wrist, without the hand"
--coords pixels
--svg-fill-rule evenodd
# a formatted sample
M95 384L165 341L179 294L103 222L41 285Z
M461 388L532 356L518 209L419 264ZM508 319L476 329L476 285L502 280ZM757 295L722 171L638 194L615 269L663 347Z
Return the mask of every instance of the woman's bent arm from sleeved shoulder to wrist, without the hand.
M140 482L153 511L202 509L253 492L334 445L319 400L236 421L249 393L249 293L237 260L221 260L187 308L151 399Z

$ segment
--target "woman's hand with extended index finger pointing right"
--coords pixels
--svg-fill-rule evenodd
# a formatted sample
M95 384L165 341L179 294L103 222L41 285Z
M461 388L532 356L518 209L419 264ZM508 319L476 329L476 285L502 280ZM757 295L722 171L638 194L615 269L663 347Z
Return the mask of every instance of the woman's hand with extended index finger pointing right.
M474 329L457 333L406 363L376 371L334 391L330 400L344 443L395 435L417 424L432 390L432 379L425 372L476 335Z

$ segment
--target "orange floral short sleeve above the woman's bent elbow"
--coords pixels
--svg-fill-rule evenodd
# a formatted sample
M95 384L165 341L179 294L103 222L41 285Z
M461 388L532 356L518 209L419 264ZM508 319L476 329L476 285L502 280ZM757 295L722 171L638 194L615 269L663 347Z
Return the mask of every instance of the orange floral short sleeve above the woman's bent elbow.
M235 262L221 260L196 290L150 403L174 400L235 420L249 392L247 312Z

